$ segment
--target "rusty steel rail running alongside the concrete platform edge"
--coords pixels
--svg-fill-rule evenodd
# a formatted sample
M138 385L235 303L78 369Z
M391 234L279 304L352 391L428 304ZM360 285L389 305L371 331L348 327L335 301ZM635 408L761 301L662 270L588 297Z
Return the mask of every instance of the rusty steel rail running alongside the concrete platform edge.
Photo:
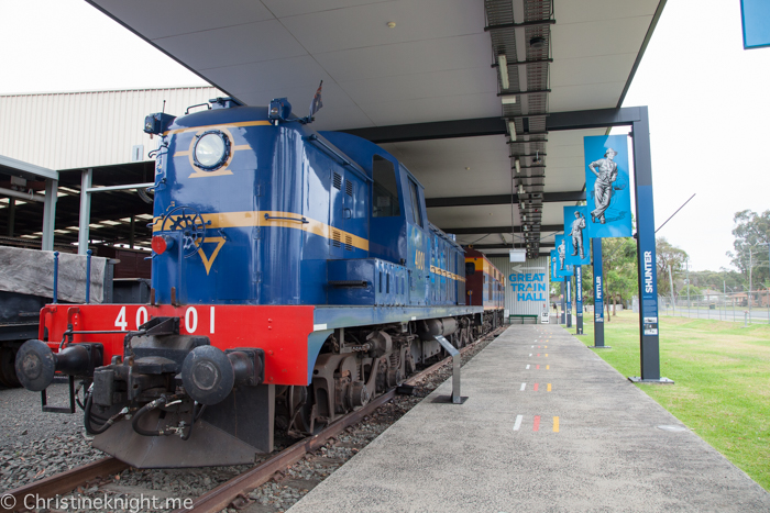
M477 344L486 341L487 337L495 336L502 330L503 328L495 330L494 332L491 332L482 338L475 341L473 344L463 347L461 349L461 355L471 350ZM417 382L418 379L430 375L435 370L439 369L444 365L450 364L451 361L451 356L444 358L441 361L428 367L427 369L417 372L416 375L407 379L405 383L414 384L415 382ZM253 490L256 487L264 484L273 477L275 472L283 471L286 468L293 466L294 464L302 459L302 457L305 457L307 453L318 450L321 446L323 446L323 444L327 443L327 440L329 440L329 438L336 437L345 428L359 423L363 417L372 414L380 406L391 401L395 397L395 394L396 389L383 393L382 395L377 397L372 402L363 406L361 410L349 413L348 415L336 421L328 427L323 428L318 434L297 442L296 444L282 450L275 456L272 456L266 460L262 461L253 469L246 470L245 472L234 477L230 481L227 481L220 484L219 487L215 488L213 490L210 490L205 494L200 495L193 503L193 508L183 508L180 510L175 510L174 513L213 513L224 510L239 495L242 495L249 490Z

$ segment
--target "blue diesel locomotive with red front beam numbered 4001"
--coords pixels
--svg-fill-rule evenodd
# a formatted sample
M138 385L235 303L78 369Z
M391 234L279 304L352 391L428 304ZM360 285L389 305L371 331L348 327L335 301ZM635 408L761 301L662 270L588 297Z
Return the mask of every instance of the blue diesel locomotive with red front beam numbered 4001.
M276 428L312 433L396 387L440 356L436 336L484 331L420 182L310 121L286 99L146 118L150 304L46 305L16 357L30 390L85 380L97 448L140 468L251 462Z

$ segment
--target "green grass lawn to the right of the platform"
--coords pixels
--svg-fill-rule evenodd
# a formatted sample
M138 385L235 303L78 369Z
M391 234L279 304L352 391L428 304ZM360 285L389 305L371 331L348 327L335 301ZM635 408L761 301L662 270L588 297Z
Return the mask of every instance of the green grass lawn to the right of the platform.
M580 339L592 346L593 315L584 319ZM770 491L770 326L743 325L661 316L660 372L675 384L637 387ZM638 314L619 312L604 338L612 348L593 350L639 376Z

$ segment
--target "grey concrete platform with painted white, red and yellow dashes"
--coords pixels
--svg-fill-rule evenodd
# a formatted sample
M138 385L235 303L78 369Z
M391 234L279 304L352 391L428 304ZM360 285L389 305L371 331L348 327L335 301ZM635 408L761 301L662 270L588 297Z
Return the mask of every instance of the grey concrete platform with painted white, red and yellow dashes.
M510 326L462 380L464 404L431 402L444 382L289 511L770 511L770 493L670 431L684 426L560 326Z

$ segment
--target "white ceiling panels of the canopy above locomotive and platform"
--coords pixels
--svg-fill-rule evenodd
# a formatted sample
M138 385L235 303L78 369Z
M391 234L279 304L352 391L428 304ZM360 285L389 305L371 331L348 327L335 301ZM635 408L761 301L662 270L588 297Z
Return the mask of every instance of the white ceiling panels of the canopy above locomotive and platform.
M88 1L244 103L288 97L305 115L323 80L317 130L502 115L484 0ZM514 12L526 1L513 0ZM554 0L548 111L619 107L662 3ZM544 192L582 190L582 137L601 133L548 134ZM493 135L384 146L428 198L448 198L509 193L506 143ZM563 204L546 203L542 224L560 223ZM431 208L429 216L442 228L510 226L512 205Z

